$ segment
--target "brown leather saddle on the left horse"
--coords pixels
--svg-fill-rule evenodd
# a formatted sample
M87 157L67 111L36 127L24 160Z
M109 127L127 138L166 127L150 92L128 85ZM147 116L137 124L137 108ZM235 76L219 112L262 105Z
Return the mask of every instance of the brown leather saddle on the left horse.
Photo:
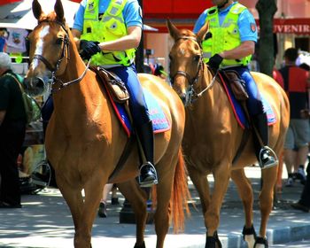
M100 81L106 86L106 89L111 93L112 99L119 104L124 104L129 99L129 93L125 83L120 77L113 74L100 66L89 66L90 70L97 74Z

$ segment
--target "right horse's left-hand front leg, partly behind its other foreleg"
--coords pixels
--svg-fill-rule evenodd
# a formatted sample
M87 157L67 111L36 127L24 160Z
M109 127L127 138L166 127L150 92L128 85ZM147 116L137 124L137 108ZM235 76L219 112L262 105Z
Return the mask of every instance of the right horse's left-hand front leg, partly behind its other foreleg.
M210 204L209 182L205 174L202 174L195 167L188 166L190 180L193 182L201 202L202 212L205 215L206 210Z

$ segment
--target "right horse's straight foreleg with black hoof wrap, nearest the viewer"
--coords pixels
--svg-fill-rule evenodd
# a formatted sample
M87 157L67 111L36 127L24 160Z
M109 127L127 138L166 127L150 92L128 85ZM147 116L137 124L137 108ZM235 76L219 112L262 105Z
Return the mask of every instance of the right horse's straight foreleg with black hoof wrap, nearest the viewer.
M205 212L205 227L207 229L207 242L205 247L208 248L215 247L215 244L217 244L218 247L221 247L221 241L217 237L217 229L220 223L221 204L229 186L229 162L222 161L219 167L213 172L213 176L213 194L210 205ZM209 240L212 244L206 246Z

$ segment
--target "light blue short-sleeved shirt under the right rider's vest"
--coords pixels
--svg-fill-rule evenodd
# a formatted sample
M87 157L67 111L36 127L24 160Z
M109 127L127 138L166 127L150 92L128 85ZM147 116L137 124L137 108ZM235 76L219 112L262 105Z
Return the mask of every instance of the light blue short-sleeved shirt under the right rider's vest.
M237 2L235 2L234 4L236 4ZM220 21L220 25L223 23L224 19L226 18L227 14L229 13L229 10L231 9L231 7L234 5L231 4L229 5L229 7L227 7L224 10L219 10L219 21ZM201 27L203 27L205 25L205 19L207 16L207 11L208 9L205 10L205 12L203 12L198 20L196 21L195 27L194 27L194 33L197 34L198 31L200 30ZM252 30L252 26L255 25L255 19L252 16L252 13L249 12L249 10L244 10L244 12L241 12L239 15L239 19L237 21L237 25L239 27L239 33L240 33L240 39L241 42L245 42L245 41L253 41L253 42L257 42L257 28L255 28L255 30Z

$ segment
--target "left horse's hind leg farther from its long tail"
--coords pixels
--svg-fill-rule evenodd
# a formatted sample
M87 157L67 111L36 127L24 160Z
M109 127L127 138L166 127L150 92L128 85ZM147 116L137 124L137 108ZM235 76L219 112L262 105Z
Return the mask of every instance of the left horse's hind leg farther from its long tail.
M135 248L144 248L144 229L147 218L146 200L147 196L136 183L136 179L117 184L120 192L130 202L136 216L136 244Z

